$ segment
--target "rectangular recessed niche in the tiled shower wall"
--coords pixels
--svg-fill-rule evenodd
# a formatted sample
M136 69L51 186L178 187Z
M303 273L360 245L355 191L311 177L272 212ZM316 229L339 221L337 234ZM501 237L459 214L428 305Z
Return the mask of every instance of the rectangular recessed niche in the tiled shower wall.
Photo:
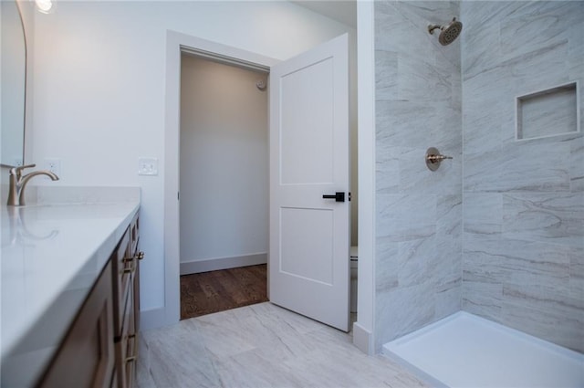
M516 98L517 141L576 132L579 132L577 82Z

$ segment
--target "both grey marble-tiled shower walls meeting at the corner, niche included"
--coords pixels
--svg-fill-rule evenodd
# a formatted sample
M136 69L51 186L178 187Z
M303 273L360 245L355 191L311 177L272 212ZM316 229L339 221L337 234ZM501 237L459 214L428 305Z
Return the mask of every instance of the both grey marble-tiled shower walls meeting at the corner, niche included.
M464 309L584 351L584 5L374 6L377 349Z

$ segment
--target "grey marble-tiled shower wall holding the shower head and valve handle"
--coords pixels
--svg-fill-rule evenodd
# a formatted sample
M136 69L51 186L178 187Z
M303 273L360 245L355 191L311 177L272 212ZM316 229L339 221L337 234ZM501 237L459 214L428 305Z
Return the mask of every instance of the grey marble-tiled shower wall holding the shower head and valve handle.
M461 309L460 42L429 24L458 2L376 1L376 322L381 344ZM428 147L454 157L431 172Z

